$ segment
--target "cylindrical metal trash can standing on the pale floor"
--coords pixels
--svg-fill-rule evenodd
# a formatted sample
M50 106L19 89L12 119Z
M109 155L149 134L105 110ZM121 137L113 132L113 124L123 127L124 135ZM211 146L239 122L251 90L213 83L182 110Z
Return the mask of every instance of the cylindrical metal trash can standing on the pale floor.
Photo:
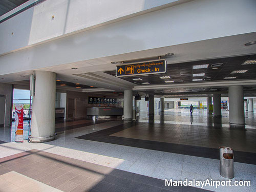
M234 154L230 147L220 147L220 174L222 177L234 178Z

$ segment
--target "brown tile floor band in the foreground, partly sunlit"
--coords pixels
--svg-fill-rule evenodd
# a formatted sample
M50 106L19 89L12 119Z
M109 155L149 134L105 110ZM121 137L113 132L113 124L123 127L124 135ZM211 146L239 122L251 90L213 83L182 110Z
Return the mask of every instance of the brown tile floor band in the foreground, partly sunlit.
M0 162L0 175L13 170L59 189L72 185L72 188L90 187L88 191L102 192L209 191L191 186L165 186L165 180L38 150L0 158Z

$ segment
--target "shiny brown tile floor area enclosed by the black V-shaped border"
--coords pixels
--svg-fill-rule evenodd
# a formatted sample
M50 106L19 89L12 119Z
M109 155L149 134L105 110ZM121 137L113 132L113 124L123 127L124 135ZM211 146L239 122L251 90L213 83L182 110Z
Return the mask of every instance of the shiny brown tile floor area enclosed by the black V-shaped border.
M111 136L256 153L256 129L232 130L220 126L137 123Z

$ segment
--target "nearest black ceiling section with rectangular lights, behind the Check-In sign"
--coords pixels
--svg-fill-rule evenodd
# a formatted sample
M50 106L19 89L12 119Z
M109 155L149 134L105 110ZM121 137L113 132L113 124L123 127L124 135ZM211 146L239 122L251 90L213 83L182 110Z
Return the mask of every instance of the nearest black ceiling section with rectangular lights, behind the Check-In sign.
M202 81L218 81L218 80L243 80L243 79L255 79L256 78L256 64L242 65L246 60L255 60L256 55L246 55L237 57L227 57L218 59L207 59L200 61L191 61L183 63L168 64L166 73L155 75L141 75L135 77L120 77L126 81L133 82L138 85L142 85L143 82L149 82L150 84L169 84L165 83L166 80L173 80L174 83L182 82L202 82ZM218 69L212 69L211 65L216 63L222 63ZM208 64L208 68L193 69L196 65ZM248 70L245 73L231 74L235 70ZM115 71L106 71L105 73L115 76ZM205 73L204 76L193 77L193 74ZM171 79L161 79L161 76L170 76ZM236 76L234 79L224 79L225 77ZM133 80L134 78L141 78L140 81ZM202 81L193 81L193 79L203 79ZM172 83L172 82L171 82Z

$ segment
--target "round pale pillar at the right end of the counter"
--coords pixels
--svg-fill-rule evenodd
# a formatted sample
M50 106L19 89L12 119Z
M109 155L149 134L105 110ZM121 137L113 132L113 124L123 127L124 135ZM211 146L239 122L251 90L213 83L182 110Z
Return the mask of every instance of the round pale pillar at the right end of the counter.
M125 90L123 94L123 120L129 122L133 120L133 91Z

